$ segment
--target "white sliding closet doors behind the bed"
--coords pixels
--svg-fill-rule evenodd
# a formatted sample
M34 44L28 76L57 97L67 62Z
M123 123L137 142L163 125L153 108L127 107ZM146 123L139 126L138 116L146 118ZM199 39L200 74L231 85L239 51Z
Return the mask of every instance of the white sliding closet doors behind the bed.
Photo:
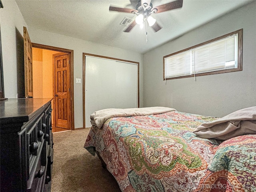
M106 108L136 108L138 65L86 56L85 116Z

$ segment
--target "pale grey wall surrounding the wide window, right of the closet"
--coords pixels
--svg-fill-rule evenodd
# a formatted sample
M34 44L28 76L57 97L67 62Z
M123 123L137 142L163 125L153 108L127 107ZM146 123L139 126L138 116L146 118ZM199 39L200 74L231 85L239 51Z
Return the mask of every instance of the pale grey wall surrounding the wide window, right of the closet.
M256 106L256 1L144 54L144 107L222 117ZM243 70L163 81L163 56L243 28Z

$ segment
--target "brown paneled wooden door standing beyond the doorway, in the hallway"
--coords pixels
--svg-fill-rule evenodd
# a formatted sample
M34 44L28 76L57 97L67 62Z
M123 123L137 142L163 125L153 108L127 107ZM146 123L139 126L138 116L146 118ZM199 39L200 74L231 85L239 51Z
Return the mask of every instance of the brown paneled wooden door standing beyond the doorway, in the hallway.
M58 53L53 58L55 127L71 129L70 54Z

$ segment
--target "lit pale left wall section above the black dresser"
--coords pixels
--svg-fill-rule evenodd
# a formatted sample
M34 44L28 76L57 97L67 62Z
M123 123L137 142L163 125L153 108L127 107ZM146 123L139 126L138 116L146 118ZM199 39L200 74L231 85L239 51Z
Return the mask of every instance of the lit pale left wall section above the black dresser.
M4 96L16 98L17 94L17 60L16 30L23 35L26 22L15 1L2 0L4 8L0 9L1 40L4 71Z

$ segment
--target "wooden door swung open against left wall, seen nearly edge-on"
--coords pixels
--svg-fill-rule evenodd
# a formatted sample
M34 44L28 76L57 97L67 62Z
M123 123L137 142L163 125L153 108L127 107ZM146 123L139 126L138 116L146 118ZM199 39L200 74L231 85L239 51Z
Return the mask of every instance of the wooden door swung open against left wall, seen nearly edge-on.
M33 69L32 69L32 43L28 30L23 27L24 38L24 76L25 76L25 97L33 97Z

